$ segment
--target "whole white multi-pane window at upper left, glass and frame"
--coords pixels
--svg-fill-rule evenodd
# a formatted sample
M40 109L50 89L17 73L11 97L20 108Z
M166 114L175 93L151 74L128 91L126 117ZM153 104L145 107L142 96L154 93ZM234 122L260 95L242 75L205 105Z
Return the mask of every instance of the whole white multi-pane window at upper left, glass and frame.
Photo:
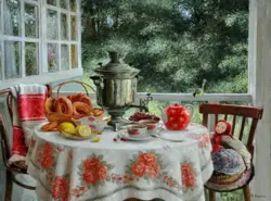
M79 22L76 0L1 0L0 88L81 75Z

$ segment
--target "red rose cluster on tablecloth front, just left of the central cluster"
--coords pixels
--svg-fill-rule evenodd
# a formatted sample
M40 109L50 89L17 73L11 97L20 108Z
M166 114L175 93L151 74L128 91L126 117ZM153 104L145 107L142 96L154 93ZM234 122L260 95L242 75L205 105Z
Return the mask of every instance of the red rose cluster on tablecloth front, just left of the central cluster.
M82 184L88 187L103 186L105 181L109 181L109 171L114 165L107 164L103 161L103 155L92 154L90 158L82 161L79 166L79 174L82 178Z

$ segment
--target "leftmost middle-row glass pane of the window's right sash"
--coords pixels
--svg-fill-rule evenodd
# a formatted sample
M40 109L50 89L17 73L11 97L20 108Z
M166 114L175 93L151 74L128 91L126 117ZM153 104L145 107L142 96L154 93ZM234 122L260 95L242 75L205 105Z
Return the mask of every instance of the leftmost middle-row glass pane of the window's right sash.
M56 11L48 10L47 12L47 37L48 39L56 40L57 32L57 13Z

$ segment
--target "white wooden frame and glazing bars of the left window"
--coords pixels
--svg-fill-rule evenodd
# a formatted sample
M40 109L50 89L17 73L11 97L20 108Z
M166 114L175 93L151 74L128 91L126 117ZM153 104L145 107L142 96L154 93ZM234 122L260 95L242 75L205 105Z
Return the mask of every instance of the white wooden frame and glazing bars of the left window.
M60 0L56 0L56 7L48 5L47 0L24 0L21 3L23 3L23 7L21 7L20 11L20 17L21 17L21 32L22 36L7 36L3 35L3 33L0 32L0 46L1 50L4 51L4 41L18 41L22 42L22 51L21 51L21 67L22 67L22 77L21 78L14 78L14 79L0 79L0 89L8 88L17 84L47 84L52 81L57 81L61 79L68 79L73 77L82 76L82 67L81 67L81 12L80 12L80 0L76 0L76 12L73 12L70 10L64 10L60 7ZM29 3L33 5L37 5L38 8L38 14L39 14L39 38L26 38L25 36L25 25L24 25L24 15L25 15L25 3ZM69 7L69 3L68 3ZM0 9L3 11L3 0L0 0ZM57 12L57 28L59 28L59 39L57 40L49 40L47 39L47 10L53 10ZM68 8L69 9L69 8ZM67 36L68 40L62 41L61 40L61 13L68 14L67 15ZM75 41L70 41L70 17L69 14L76 16L76 35L77 39ZM0 30L3 30L3 15L4 13L1 12L0 21L1 27ZM72 37L72 36L70 36ZM39 42L39 75L33 75L33 76L25 76L25 42ZM48 72L48 56L47 56L47 47L48 42L56 43L59 46L59 71L57 72ZM61 71L61 45L68 45L68 54L69 54L69 70L67 71ZM72 54L70 54L70 45L75 45L77 49L77 68L72 68ZM1 74L4 75L4 56L1 56Z

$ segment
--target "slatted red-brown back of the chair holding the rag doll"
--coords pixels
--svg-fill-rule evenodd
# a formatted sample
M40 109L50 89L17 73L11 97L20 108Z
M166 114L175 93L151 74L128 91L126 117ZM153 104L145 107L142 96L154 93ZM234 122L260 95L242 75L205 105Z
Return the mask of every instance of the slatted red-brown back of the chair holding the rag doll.
M254 137L258 121L262 117L262 108L203 103L199 105L199 113L203 114L203 125L208 125L209 114L215 115L215 124L219 120L225 120L232 124L234 137L244 142L247 150L254 153ZM247 134L247 135L244 135Z

